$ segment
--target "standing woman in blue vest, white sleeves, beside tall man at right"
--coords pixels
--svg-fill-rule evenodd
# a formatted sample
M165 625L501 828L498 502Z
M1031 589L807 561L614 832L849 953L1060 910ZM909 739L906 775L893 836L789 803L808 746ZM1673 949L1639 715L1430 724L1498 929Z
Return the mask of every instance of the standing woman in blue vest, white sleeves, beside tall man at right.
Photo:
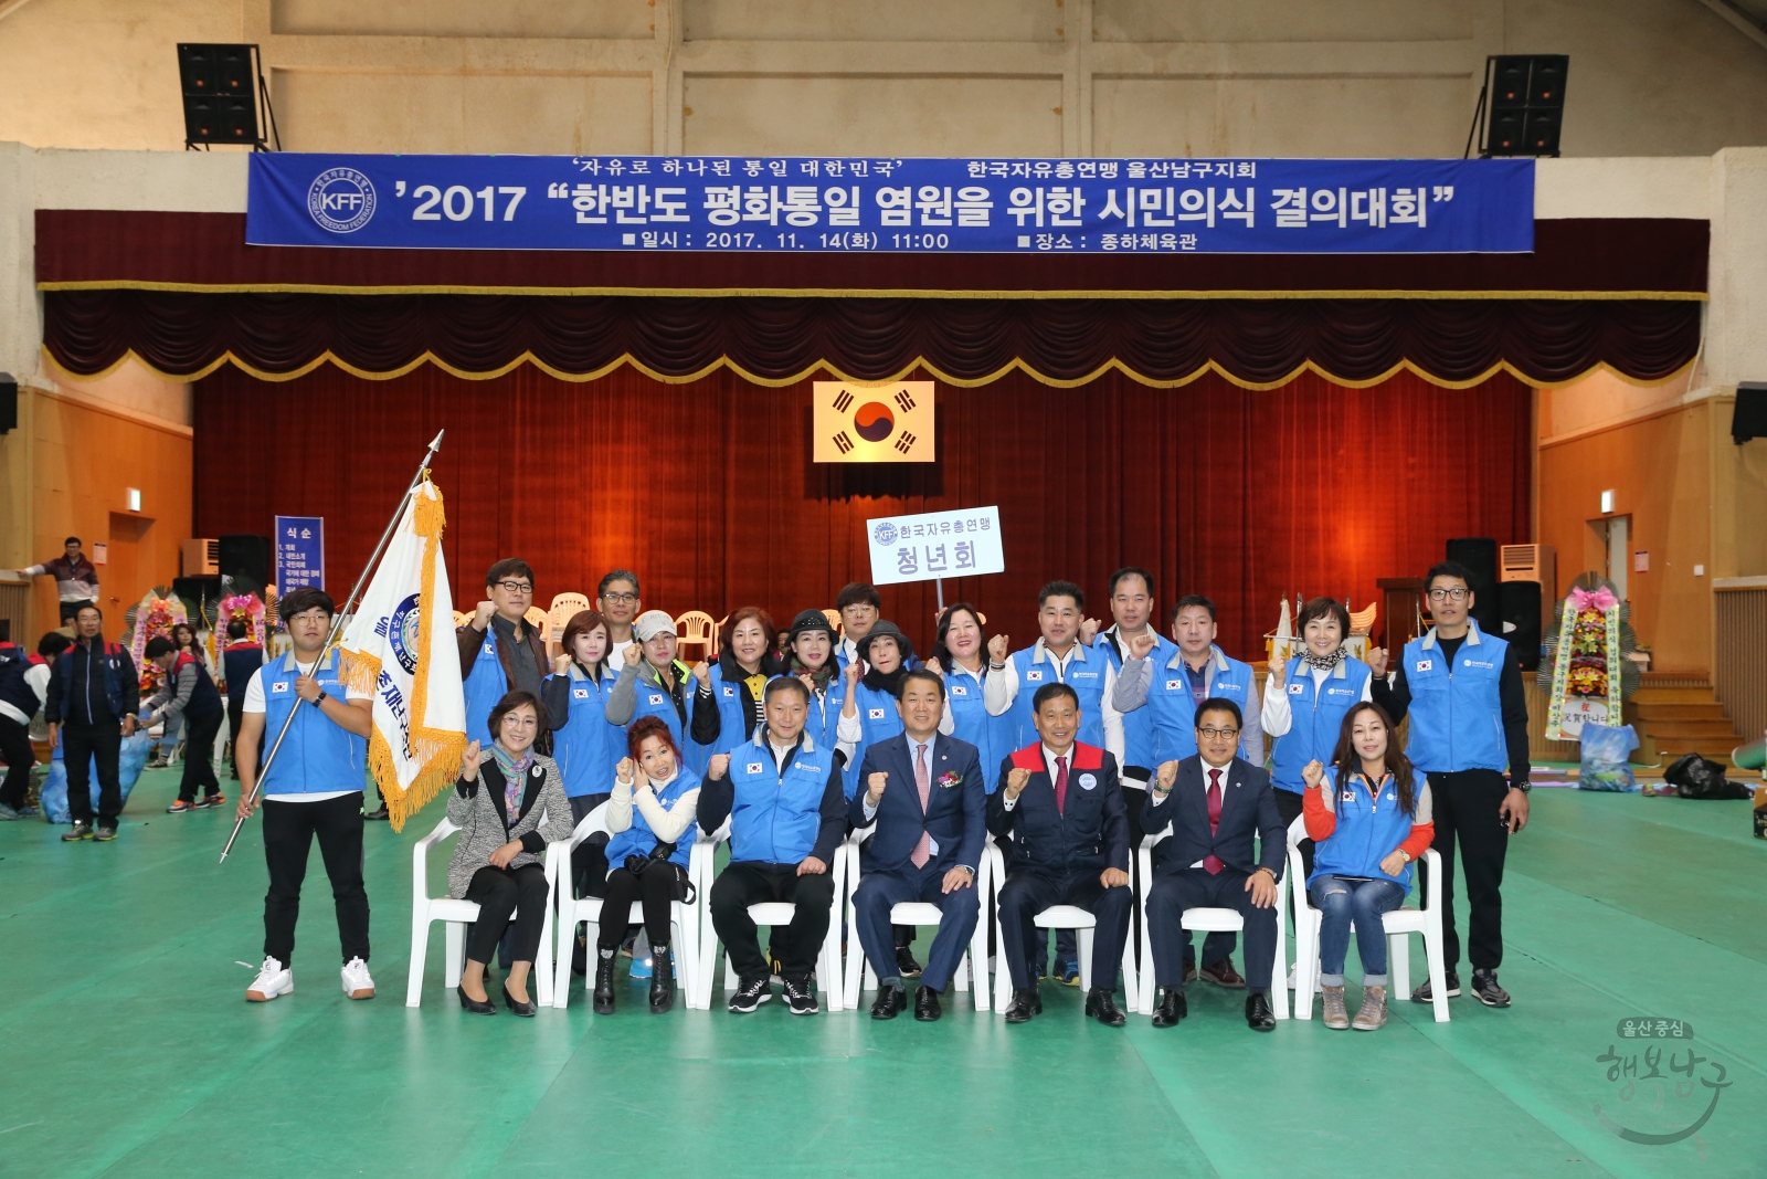
M1338 748L1343 718L1369 698L1369 670L1343 649L1350 636L1350 610L1331 597L1315 597L1295 619L1301 650L1290 659L1270 659L1263 681L1263 732L1276 739L1270 755L1270 785L1283 825L1301 815L1308 762L1325 762ZM1302 845L1313 868L1313 847Z

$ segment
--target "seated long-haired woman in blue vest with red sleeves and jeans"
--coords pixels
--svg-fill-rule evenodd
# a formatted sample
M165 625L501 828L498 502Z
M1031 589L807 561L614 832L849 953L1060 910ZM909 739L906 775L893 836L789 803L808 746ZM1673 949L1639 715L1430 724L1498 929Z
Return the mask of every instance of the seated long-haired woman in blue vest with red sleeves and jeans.
M1430 783L1392 741L1392 721L1378 704L1357 704L1338 730L1331 765L1302 767L1313 873L1308 894L1320 910L1320 997L1325 1027L1371 1032L1387 1022L1387 930L1380 914L1405 903L1412 861L1435 840ZM1355 1022L1343 1006L1343 958L1362 955L1362 1008Z

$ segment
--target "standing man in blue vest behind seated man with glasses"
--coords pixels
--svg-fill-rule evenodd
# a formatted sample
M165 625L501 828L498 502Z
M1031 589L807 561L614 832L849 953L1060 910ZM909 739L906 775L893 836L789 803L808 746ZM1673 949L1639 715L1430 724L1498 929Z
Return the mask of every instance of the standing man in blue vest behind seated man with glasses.
M1232 700L1244 716L1239 757L1249 765L1263 765L1263 730L1253 707L1256 681L1251 666L1228 659L1216 645L1219 626L1214 603L1202 594L1186 594L1172 606L1172 638L1177 650L1152 658L1156 643L1141 635L1129 642L1129 659L1117 677L1115 705L1127 718L1145 711L1154 728L1154 764L1179 762L1196 753L1196 705L1203 700ZM1205 977L1217 986L1240 988L1246 979L1233 969L1233 933L1203 939L1203 969L1196 969L1196 951L1186 942L1184 981Z

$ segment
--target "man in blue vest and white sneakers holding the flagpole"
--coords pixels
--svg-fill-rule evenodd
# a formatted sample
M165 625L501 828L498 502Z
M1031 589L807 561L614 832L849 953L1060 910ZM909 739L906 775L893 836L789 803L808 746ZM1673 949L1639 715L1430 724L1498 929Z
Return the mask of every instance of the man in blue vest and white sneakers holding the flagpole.
M263 896L263 965L246 988L251 1002L267 1002L295 988L290 962L300 884L315 838L337 907L343 993L375 997L368 974L368 891L362 887L362 787L375 705L369 693L341 682L337 650L320 663L334 610L323 590L290 590L281 601L281 615L293 650L265 663L246 688L239 726L239 818L251 818L256 810L258 748L265 741L276 744L293 712L263 780L263 861L270 870L270 891ZM297 709L295 700L306 704Z

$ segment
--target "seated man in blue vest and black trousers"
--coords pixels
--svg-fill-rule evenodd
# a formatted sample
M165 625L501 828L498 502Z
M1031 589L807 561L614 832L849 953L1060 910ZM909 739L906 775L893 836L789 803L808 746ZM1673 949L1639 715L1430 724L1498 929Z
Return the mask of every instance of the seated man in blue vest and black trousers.
M737 969L730 1009L755 1011L772 997L767 958L749 905L795 905L781 937L779 981L792 1015L816 1013L809 976L829 933L834 877L829 864L846 833L846 794L834 749L804 732L809 689L781 675L767 682L767 723L730 753L712 755L700 785L700 829L716 834L730 820L730 866L712 882L712 928ZM712 963L707 962L707 970ZM836 986L836 979L823 979Z

